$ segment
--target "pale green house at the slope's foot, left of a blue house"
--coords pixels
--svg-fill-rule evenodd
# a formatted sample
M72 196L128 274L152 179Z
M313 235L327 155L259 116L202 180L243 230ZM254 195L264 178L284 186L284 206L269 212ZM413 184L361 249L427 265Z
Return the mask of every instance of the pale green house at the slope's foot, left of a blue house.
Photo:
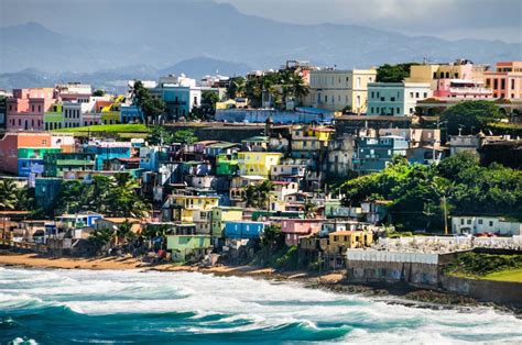
M166 249L172 253L174 261L186 261L203 258L210 247L208 235L167 235Z

